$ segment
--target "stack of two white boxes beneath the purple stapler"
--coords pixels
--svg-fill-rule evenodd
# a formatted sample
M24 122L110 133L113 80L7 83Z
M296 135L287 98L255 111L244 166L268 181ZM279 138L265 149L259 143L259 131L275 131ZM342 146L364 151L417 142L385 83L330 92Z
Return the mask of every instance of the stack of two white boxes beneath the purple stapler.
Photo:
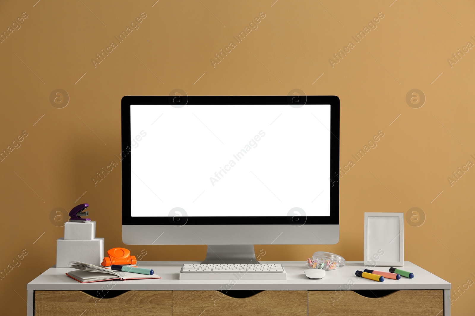
M95 222L66 222L64 238L56 241L56 267L67 268L71 260L101 265L104 238L95 238Z

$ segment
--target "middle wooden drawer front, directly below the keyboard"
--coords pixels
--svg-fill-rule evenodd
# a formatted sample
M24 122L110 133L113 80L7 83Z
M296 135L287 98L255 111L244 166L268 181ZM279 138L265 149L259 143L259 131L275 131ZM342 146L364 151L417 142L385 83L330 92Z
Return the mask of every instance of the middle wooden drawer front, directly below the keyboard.
M215 290L173 291L173 316L307 316L307 302L307 291L262 291L247 298Z

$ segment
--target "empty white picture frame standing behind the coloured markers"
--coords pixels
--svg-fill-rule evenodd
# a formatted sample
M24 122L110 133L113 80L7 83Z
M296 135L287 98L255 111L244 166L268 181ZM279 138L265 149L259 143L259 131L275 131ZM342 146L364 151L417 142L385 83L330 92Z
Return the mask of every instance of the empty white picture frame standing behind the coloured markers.
M404 213L364 213L363 264L404 266Z

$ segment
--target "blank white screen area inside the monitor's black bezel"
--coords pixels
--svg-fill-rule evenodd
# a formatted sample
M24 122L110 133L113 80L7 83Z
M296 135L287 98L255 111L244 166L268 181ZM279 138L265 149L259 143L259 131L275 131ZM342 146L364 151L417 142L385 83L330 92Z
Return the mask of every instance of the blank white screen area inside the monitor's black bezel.
M133 217L330 216L330 105L132 105L130 136Z

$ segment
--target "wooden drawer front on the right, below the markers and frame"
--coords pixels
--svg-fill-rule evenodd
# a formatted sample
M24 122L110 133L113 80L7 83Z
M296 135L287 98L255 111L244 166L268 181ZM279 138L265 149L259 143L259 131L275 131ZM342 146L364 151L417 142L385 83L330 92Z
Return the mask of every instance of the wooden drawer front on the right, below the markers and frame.
M325 316L443 316L443 309L443 290L400 290L380 298L367 298L351 290L308 292L308 316L323 310Z

